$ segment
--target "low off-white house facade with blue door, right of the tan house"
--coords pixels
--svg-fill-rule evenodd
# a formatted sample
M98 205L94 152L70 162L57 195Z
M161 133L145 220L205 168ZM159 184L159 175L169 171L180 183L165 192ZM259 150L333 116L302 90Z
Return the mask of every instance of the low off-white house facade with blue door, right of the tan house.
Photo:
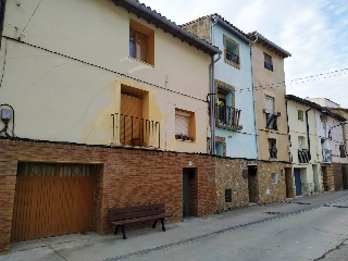
M323 114L315 103L287 95L287 114L295 195L323 192L321 163L326 144L321 142L320 123Z

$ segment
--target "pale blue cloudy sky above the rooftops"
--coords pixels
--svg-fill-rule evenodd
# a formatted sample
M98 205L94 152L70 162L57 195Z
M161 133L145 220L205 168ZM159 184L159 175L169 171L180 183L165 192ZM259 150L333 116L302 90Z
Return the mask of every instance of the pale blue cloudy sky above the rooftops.
M347 0L139 0L176 24L219 13L291 53L286 90L348 108ZM298 80L299 78L304 78Z

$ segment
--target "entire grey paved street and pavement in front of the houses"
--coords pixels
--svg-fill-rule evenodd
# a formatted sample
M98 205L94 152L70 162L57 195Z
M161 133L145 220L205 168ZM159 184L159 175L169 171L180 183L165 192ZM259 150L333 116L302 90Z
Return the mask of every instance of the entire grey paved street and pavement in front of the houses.
M0 260L345 260L347 219L348 191L338 191L167 224L165 233L129 231L127 240L78 235L15 244Z

